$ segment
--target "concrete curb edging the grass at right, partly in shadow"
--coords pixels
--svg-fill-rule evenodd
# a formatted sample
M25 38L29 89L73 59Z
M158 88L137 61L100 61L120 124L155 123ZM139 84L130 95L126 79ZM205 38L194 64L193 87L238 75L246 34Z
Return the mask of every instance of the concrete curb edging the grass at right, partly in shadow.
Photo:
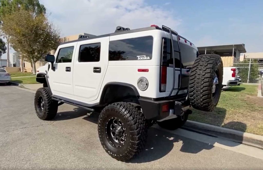
M263 149L263 136L188 120L183 129Z

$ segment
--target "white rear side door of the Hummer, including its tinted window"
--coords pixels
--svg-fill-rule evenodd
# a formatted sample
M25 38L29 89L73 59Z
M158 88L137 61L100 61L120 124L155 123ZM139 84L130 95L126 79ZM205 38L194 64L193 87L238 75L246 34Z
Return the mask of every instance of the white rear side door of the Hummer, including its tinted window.
M96 100L108 66L109 37L80 41L73 71L74 97L83 102Z

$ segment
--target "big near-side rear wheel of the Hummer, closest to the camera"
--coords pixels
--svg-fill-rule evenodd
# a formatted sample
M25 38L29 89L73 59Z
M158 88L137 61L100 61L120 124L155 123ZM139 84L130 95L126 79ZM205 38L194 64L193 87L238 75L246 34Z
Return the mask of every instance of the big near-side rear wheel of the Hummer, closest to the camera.
M113 103L99 115L100 142L105 151L118 161L128 161L143 149L147 131L147 121L137 104Z

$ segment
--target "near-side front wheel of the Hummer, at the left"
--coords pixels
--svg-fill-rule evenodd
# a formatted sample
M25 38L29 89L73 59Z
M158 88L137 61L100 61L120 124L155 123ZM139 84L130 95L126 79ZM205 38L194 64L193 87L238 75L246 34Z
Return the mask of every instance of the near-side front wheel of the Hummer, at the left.
M51 120L57 114L58 101L52 100L47 87L37 90L34 104L36 114L42 120Z

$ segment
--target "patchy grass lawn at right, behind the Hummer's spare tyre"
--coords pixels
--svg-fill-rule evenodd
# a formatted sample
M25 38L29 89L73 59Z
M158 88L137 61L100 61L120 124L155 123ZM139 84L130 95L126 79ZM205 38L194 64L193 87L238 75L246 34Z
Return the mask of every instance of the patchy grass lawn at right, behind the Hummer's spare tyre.
M263 98L257 85L240 85L221 92L213 112L194 110L189 120L263 135Z

